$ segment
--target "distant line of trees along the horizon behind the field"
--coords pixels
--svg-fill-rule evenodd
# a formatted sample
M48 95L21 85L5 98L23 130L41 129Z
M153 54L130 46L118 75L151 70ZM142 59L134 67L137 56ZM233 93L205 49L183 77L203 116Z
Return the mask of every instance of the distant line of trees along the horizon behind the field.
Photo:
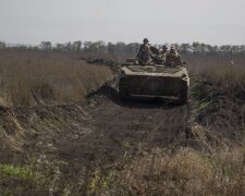
M71 52L91 52L91 53L111 53L111 54L136 54L139 46L138 42L105 42L105 41L69 41L65 44L52 44L51 41L41 41L39 46L26 45L7 45L0 41L0 49L10 50L40 50L40 51L71 51ZM245 53L245 45L232 46L211 46L201 42L193 44L166 44L167 46L173 45L180 53ZM162 45L154 45L161 48Z

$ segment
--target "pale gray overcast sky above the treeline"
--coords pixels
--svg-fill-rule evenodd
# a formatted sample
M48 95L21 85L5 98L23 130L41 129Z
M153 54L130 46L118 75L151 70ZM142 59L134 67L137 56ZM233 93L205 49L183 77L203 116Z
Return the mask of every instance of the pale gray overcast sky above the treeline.
M0 0L0 40L245 44L244 0Z

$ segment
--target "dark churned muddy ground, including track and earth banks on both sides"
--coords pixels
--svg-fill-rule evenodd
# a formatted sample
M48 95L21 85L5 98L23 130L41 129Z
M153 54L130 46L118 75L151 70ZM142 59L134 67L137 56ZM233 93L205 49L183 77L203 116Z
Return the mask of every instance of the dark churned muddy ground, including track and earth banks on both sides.
M192 82L184 106L155 98L122 102L114 82L109 82L74 105L1 108L0 162L20 166L30 158L62 162L63 182L84 179L79 191L72 189L85 193L86 179L98 168L120 170L130 157L152 148L197 147L188 143L196 123L230 139L238 137L244 102L201 79Z

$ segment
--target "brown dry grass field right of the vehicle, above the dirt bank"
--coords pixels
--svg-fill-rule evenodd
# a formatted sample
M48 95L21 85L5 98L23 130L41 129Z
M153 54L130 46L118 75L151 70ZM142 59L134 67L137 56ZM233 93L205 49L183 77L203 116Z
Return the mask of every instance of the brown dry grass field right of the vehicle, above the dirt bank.
M245 95L245 59L244 54L228 56L187 56L188 70L192 74L201 76L226 93L236 96Z

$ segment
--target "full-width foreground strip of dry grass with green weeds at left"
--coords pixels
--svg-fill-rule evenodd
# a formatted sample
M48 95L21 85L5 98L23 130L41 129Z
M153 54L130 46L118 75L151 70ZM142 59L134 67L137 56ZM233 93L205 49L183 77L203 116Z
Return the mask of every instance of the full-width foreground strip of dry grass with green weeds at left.
M243 195L244 161L242 147L226 147L212 154L187 147L172 151L155 148L121 160L125 162L122 170L81 170L76 181L62 176L62 163L38 160L22 168L0 164L0 194Z

